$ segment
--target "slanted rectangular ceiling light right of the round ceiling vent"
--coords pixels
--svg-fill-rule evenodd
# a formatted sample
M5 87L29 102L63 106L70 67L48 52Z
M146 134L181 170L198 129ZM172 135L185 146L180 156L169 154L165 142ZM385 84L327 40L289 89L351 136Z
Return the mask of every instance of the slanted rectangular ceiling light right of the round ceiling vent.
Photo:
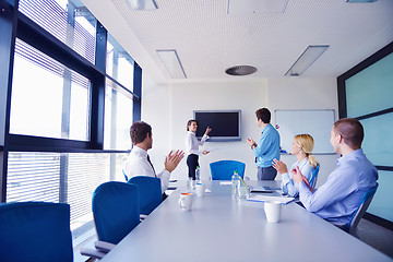
M302 74L326 49L329 46L309 46L285 73L289 76Z

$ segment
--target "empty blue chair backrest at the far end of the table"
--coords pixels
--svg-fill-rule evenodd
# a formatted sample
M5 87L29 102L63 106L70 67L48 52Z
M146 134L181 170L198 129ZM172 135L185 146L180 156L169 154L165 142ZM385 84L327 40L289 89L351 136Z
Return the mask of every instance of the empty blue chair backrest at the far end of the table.
M210 164L212 180L230 180L234 171L243 178L246 164L237 160L218 160Z

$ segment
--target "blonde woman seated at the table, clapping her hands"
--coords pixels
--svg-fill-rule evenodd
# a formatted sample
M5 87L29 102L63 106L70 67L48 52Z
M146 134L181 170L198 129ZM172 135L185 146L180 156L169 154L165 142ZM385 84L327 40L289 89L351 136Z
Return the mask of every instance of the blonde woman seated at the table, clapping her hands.
M294 163L290 170L298 166L308 181L311 180L318 166L318 162L313 155L311 155L313 143L313 139L310 134L298 134L295 136L291 146L291 154L296 155L298 160ZM282 175L281 188L284 194L297 196L299 194L299 184L291 178L287 166L282 160L274 159L273 167Z

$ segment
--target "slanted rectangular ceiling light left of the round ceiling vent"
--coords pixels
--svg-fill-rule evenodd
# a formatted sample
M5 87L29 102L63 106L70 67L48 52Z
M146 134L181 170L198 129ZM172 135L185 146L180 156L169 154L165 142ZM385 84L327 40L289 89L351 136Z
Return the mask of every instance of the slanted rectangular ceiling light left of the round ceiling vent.
M172 79L187 79L184 69L175 49L157 50L157 53Z

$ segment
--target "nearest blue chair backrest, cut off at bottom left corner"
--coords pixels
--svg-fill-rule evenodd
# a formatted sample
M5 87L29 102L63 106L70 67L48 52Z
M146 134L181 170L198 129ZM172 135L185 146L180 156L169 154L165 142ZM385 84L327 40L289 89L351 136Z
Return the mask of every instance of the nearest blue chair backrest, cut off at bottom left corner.
M70 205L0 204L0 261L72 262Z

